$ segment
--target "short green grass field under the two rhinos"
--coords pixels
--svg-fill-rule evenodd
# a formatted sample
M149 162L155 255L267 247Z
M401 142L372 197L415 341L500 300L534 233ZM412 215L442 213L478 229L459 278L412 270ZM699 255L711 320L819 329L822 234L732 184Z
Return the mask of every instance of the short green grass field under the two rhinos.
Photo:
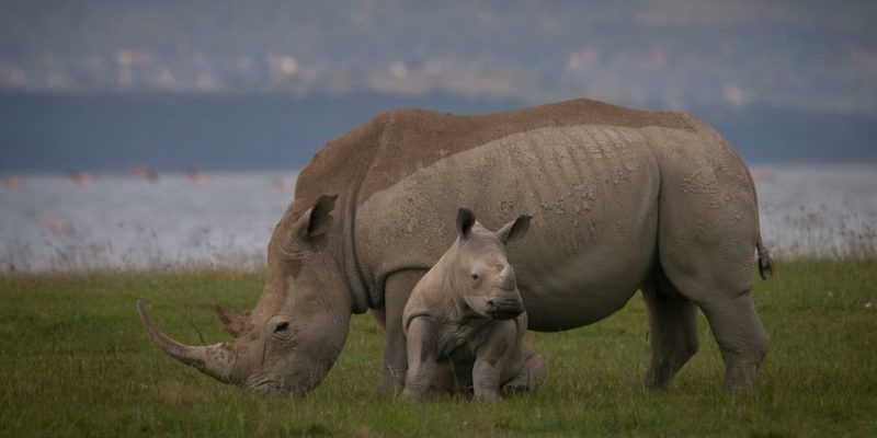
M618 314L528 334L548 362L535 395L478 404L374 394L383 333L353 320L340 360L304 399L219 384L160 351L135 303L167 333L224 338L214 303L248 309L261 274L0 277L2 436L877 436L877 261L779 263L755 302L773 348L751 394L721 389L705 320L674 388L631 383L648 360L636 296Z

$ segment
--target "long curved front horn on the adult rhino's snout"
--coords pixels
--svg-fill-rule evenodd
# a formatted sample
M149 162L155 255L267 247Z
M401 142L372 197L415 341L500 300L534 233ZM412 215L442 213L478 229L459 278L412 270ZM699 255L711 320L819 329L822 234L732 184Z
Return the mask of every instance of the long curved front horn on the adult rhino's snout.
M152 324L152 320L149 319L140 301L137 301L137 312L140 314L140 321L143 321L146 331L149 333L149 337L152 338L152 342L161 347L164 353L185 365L195 367L201 372L220 382L231 383L231 374L235 368L235 355L225 344L204 345L201 347L191 347L180 344L164 333L161 333L161 331Z

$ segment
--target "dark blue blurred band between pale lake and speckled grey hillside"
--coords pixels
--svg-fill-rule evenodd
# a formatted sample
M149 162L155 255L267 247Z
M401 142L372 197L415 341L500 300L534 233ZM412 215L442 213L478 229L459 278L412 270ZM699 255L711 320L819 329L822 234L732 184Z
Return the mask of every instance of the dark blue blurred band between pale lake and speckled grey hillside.
M414 106L479 114L526 105L449 94L293 97L0 92L4 155L0 174L113 173L136 163L160 172L300 168L327 141L385 110ZM877 164L877 115L766 106L687 111L713 124L752 165Z

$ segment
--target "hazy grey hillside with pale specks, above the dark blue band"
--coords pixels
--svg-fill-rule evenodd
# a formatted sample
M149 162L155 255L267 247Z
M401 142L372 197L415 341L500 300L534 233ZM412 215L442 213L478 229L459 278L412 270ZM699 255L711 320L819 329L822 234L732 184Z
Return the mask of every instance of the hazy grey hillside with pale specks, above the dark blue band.
M877 112L877 2L0 0L0 89Z

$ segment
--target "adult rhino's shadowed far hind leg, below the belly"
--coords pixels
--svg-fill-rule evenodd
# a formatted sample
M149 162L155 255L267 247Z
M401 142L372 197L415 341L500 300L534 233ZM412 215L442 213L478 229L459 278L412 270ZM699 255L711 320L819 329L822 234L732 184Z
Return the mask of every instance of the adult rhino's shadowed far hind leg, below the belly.
M649 310L651 364L642 378L646 388L665 388L697 353L697 308L662 273L642 286Z

